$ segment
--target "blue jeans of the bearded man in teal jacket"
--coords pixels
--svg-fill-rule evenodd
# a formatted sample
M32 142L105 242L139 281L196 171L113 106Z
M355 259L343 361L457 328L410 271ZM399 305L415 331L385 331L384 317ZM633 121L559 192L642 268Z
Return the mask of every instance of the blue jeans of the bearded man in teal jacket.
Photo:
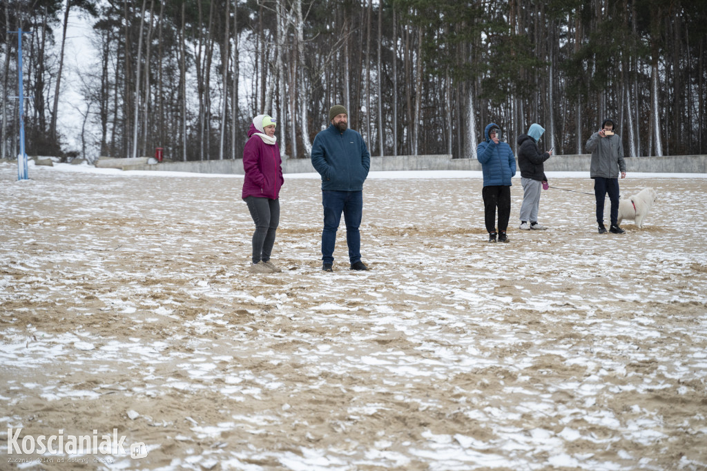
M324 230L322 230L322 263L334 263L334 244L337 229L344 213L346 223L346 245L349 246L349 261L361 261L361 225L363 213L363 191L322 191L324 205Z

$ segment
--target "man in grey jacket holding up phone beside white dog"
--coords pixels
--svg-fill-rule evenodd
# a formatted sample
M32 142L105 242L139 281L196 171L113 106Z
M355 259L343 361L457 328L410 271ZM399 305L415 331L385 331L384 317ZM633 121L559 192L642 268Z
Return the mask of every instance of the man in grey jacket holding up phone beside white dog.
M604 227L604 200L609 193L611 213L609 215L612 234L624 234L619 227L619 172L621 178L626 178L626 162L624 161L624 146L621 137L614 133L614 121L605 119L602 129L593 133L587 141L587 150L592 153L590 177L594 179L594 194L597 198L597 225L599 233L606 234Z

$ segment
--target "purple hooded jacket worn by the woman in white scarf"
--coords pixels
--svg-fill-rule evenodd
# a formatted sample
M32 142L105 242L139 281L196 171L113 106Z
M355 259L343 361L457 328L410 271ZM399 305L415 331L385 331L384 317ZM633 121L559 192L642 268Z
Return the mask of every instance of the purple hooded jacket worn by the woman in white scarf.
M243 193L241 198L257 196L258 198L277 199L285 179L282 177L282 160L277 144L266 144L259 132L250 125L248 142L243 148Z

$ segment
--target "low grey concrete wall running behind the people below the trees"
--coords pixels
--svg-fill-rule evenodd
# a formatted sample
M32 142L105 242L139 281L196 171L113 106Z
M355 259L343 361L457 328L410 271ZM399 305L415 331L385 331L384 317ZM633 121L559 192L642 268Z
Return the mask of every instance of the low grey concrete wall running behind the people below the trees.
M591 155L556 155L545 162L547 172L589 172ZM115 159L126 161L127 159ZM211 174L243 174L243 161L205 160L203 162L163 162L156 165L125 165L124 170L154 170ZM286 159L285 173L315 172L309 159ZM397 155L370 157L373 171L392 170L481 170L476 159L452 159L450 155ZM627 157L626 172L707 173L707 155L668 157Z

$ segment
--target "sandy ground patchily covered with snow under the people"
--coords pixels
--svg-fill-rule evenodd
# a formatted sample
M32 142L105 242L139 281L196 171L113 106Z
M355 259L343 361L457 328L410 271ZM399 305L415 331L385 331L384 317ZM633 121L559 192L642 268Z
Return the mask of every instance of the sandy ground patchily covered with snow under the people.
M322 273L320 183L287 179L284 271L251 275L241 179L30 177L0 165L0 469L707 469L707 179L629 175L659 199L620 236L590 179L518 230L514 180L510 244L480 179L369 179L367 273L344 231Z

